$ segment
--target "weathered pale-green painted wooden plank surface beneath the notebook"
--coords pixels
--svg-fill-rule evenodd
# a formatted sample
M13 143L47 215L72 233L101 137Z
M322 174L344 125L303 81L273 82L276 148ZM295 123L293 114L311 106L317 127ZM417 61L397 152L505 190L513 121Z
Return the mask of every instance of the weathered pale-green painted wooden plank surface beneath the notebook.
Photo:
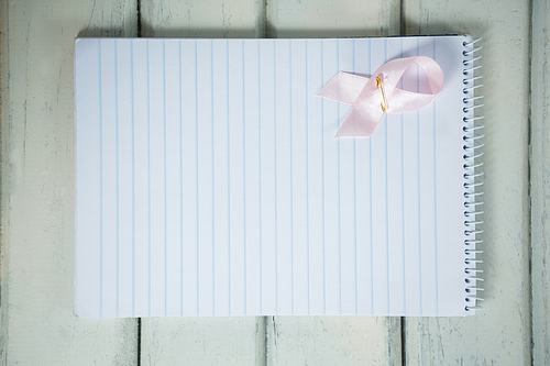
M550 364L547 2L4 0L0 13L2 364ZM75 37L462 33L482 36L484 47L485 310L469 318L73 314Z

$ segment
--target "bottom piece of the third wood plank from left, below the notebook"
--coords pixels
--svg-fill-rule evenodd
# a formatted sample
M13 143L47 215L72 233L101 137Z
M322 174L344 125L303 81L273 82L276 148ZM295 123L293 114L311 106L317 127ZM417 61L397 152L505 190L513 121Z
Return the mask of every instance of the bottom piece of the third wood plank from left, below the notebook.
M400 365L395 317L268 317L267 365Z

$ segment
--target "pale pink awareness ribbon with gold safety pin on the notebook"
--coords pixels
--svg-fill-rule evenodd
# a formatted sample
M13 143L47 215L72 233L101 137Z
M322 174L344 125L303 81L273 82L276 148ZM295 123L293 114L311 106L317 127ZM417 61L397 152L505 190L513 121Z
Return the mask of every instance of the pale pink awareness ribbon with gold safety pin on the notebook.
M413 63L426 71L431 93L397 88L403 74ZM377 87L377 77L382 80L382 88ZM319 96L353 104L337 137L370 136L384 115L382 106L386 107L387 113L416 111L431 103L443 89L443 70L433 59L426 56L406 57L385 63L371 78L341 71L324 85Z

